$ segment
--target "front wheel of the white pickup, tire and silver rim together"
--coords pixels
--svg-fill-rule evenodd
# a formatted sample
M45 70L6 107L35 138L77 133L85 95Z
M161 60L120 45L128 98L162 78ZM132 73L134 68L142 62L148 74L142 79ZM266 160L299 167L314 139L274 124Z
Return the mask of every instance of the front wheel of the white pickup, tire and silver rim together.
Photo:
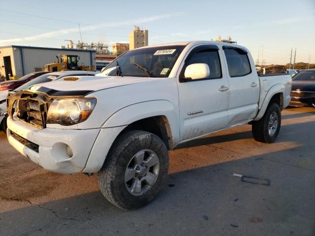
M158 136L128 131L114 142L98 172L100 190L122 209L143 207L162 190L168 164L167 148Z

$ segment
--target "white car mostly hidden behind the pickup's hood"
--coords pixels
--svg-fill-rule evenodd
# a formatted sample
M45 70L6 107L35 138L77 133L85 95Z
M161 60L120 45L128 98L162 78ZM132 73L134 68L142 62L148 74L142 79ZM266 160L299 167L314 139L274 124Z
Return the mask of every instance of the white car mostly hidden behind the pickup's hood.
M95 71L83 71L83 70L67 70L67 71L59 71L59 72L50 72L42 74L35 79L25 83L24 85L14 89L12 92L0 91L0 129L3 132L6 132L6 119L7 119L7 111L6 111L6 97L8 93L14 93L17 91L21 91L22 89L30 89L32 86L40 83L52 82L63 79L67 76L94 76L97 72Z

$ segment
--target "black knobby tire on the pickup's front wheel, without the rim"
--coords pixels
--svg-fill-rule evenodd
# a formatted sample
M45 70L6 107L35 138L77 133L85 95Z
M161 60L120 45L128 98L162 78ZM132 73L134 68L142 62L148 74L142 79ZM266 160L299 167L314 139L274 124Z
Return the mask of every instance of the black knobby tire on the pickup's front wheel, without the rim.
M159 173L154 185L140 196L128 192L125 186L126 167L138 151L151 149L159 158ZM152 133L133 130L121 134L114 142L102 169L98 172L98 184L104 197L122 209L137 209L147 205L162 190L168 173L168 151L164 142Z

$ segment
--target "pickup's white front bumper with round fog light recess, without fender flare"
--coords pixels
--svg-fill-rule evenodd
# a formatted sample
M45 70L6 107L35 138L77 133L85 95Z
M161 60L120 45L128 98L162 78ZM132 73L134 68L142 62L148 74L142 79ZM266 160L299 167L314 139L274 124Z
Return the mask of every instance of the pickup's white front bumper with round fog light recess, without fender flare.
M44 169L64 174L81 172L99 129L38 129L20 120L7 119L10 145ZM70 147L73 155L68 154Z

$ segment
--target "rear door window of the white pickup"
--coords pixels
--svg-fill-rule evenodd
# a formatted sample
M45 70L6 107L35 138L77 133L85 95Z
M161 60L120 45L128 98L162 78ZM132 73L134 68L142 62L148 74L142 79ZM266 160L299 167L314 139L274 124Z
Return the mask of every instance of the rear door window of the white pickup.
M223 46L230 77L245 76L252 73L247 52L240 48Z

